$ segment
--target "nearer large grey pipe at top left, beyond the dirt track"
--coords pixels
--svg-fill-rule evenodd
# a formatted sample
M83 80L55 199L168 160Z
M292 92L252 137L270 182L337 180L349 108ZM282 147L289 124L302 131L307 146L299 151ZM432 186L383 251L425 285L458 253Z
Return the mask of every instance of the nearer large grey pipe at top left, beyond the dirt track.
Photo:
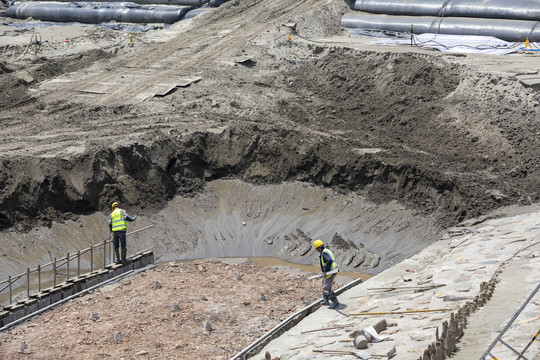
M6 16L43 21L100 24L109 21L172 24L181 20L191 7L124 7L76 6L75 4L17 3L6 10Z

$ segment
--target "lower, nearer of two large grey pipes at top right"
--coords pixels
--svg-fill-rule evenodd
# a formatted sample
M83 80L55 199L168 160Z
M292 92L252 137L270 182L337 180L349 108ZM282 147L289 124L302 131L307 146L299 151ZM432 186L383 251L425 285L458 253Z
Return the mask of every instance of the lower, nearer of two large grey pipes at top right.
M430 16L391 16L352 12L343 15L341 26L415 34L494 36L505 41L540 41L540 22L481 18L440 18Z

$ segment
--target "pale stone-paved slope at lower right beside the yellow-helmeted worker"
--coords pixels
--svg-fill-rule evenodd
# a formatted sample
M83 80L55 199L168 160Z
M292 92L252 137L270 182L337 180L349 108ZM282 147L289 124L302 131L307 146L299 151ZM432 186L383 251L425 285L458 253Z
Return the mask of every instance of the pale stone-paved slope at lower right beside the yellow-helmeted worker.
M471 222L472 224L472 222ZM355 359L352 354L324 354L314 350L358 351L351 334L380 320L390 325L365 351L384 355L396 349L394 359L418 359L443 331L443 322L465 304L474 303L482 283L497 278L493 296L468 318L459 350L452 359L479 359L514 312L540 283L540 212L507 216L477 225L450 229L448 236L342 294L337 310L322 307L274 339L254 359ZM539 244L537 244L539 243ZM497 274L497 275L496 275ZM418 289L423 291L417 292ZM478 298L477 298L478 299ZM418 310L445 309L434 312ZM361 312L405 314L354 315ZM337 329L320 330L330 327ZM503 338L522 351L540 330L540 292ZM526 355L540 359L540 340ZM499 344L492 354L515 359ZM488 357L489 358L489 357Z

